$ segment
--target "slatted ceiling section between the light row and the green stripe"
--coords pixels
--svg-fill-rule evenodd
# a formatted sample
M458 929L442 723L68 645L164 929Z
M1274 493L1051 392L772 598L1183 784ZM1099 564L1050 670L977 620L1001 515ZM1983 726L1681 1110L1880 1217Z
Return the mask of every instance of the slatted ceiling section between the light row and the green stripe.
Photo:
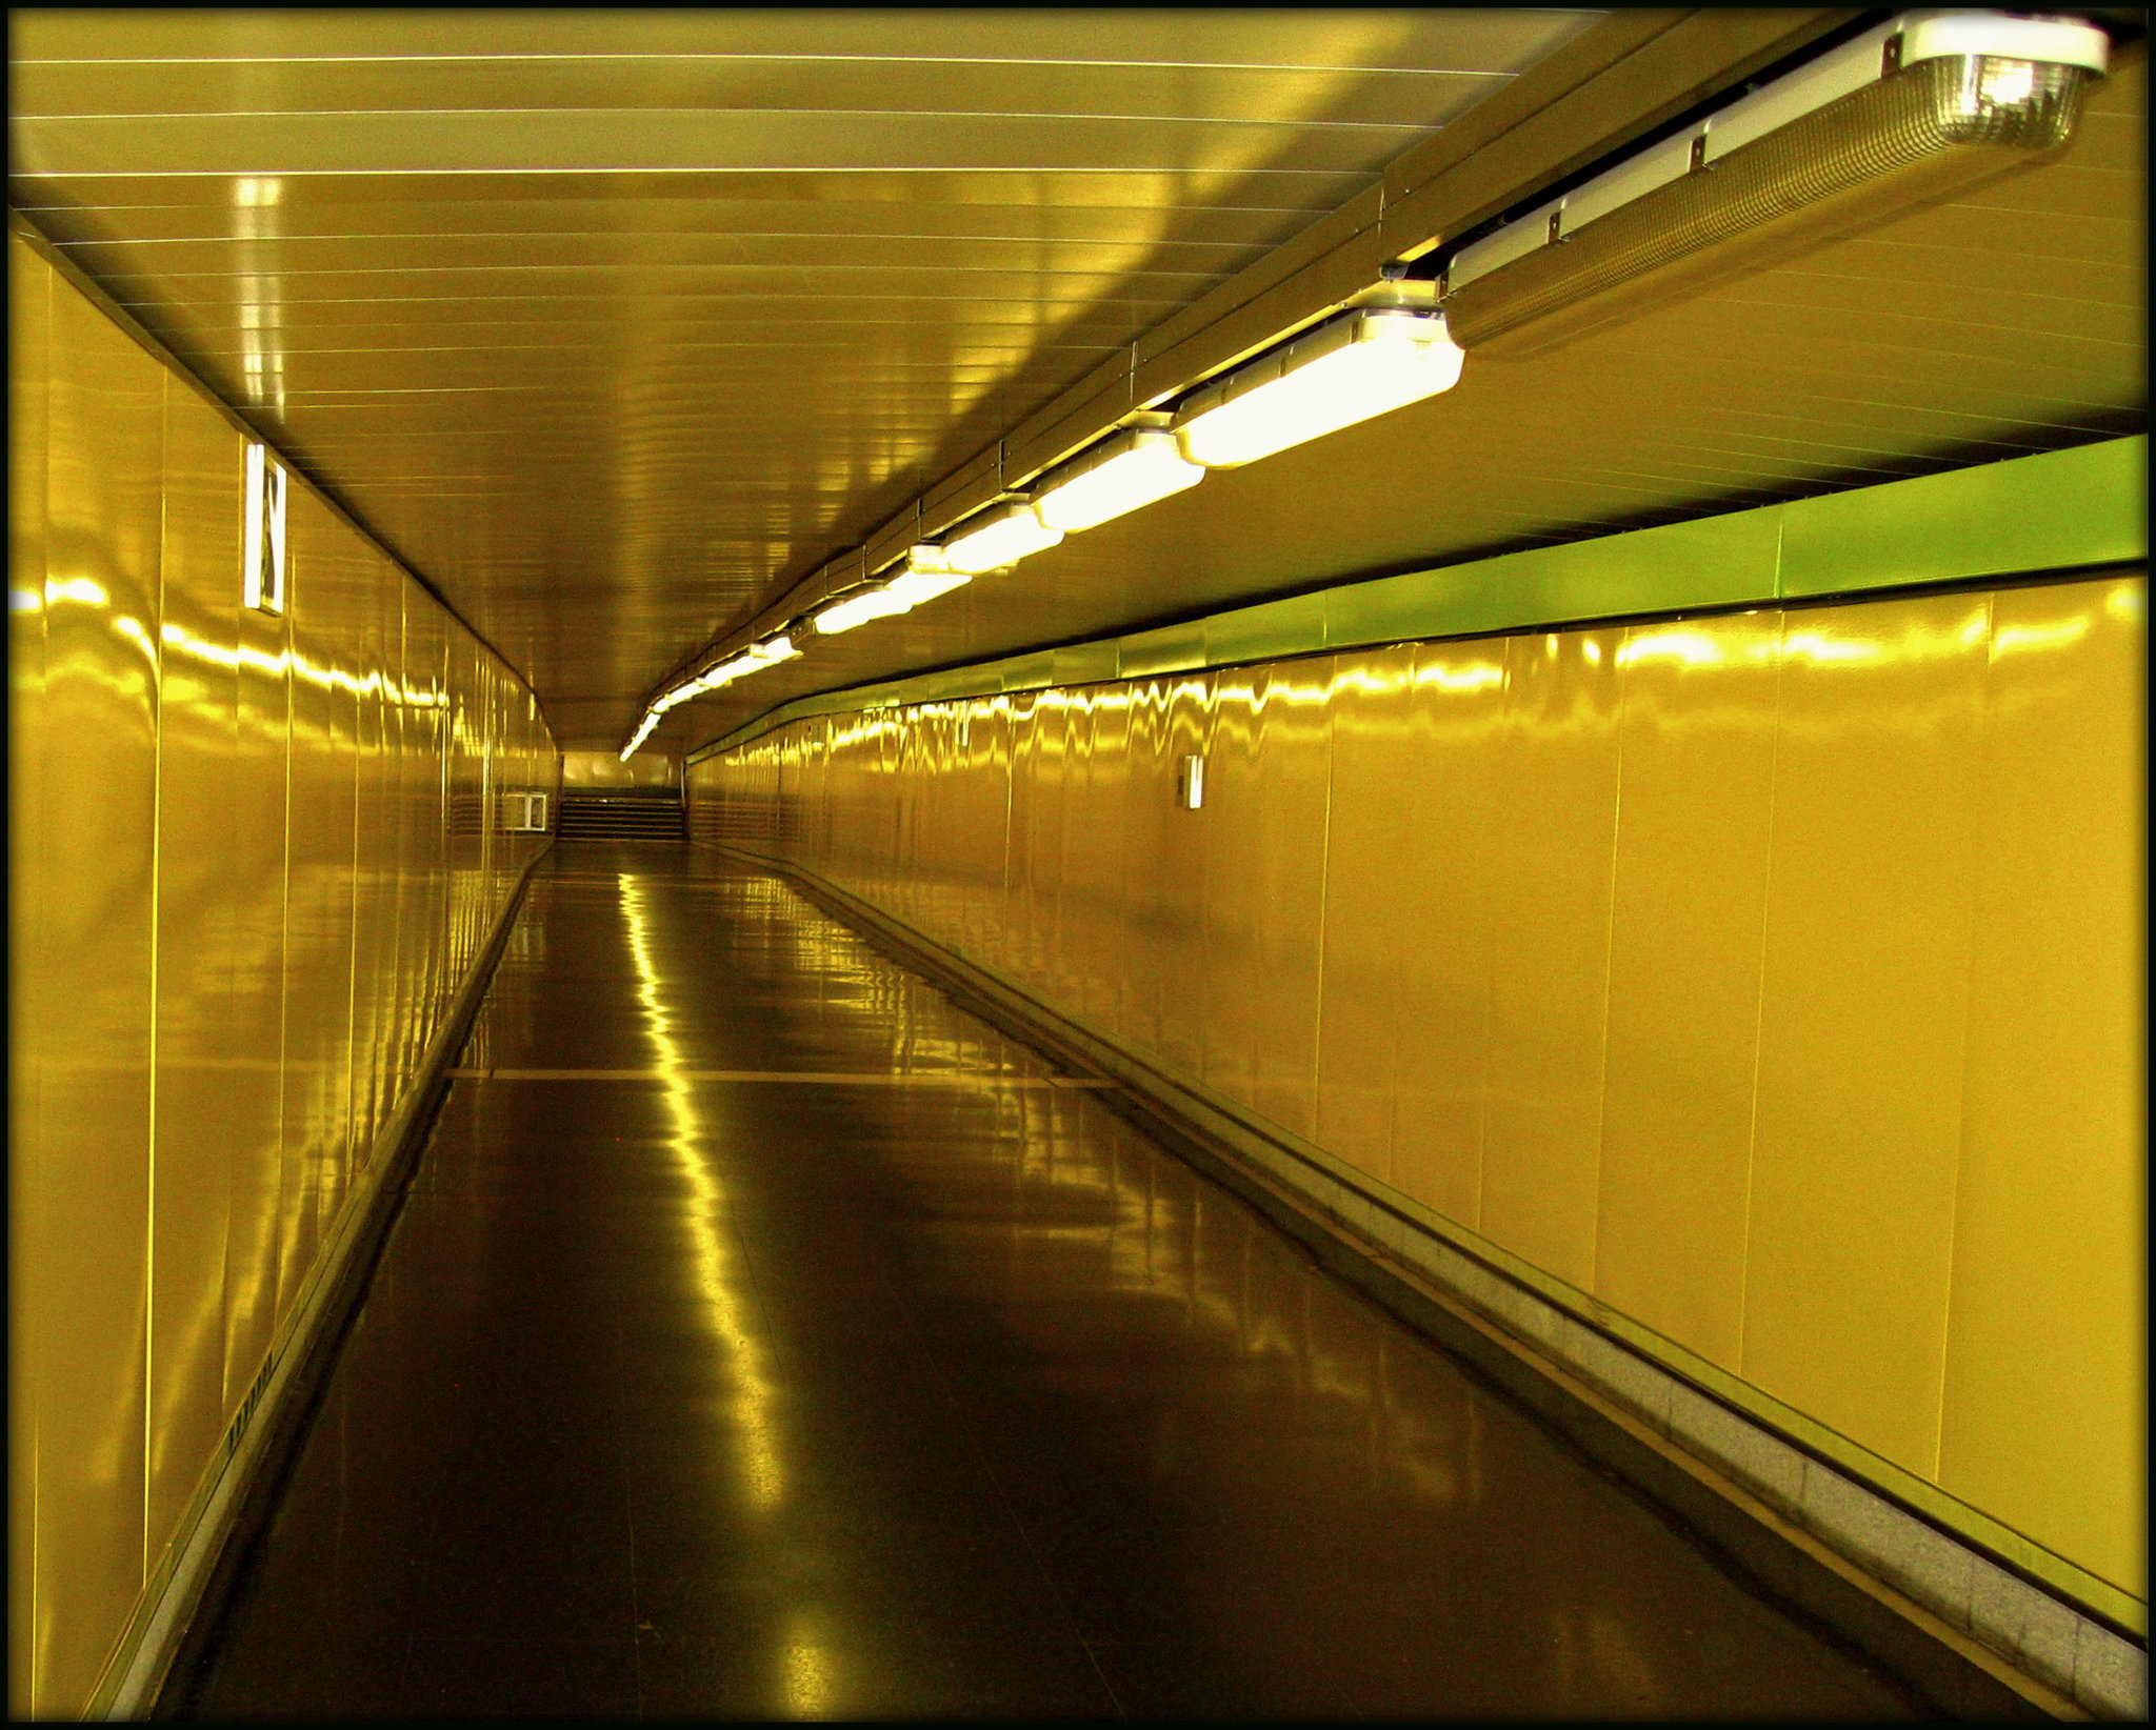
M701 743L819 689L1330 582L2147 427L2147 65L2012 179L1072 536L675 711Z

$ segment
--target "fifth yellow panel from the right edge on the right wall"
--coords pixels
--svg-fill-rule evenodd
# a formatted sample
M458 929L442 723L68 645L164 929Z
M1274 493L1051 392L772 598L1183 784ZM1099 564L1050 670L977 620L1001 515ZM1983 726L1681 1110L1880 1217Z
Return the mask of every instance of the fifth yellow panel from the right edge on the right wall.
M1468 1228L1481 1224L1503 745L1505 644L1421 644L1404 750L1412 773L1397 795L1412 868L1395 881L1393 1183Z

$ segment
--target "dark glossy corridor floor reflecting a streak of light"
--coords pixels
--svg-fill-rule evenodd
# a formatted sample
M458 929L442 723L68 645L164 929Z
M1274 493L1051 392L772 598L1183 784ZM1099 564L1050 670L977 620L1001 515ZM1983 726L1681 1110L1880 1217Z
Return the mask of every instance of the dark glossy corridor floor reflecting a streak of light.
M464 1064L192 1715L1906 1715L774 879L558 847Z

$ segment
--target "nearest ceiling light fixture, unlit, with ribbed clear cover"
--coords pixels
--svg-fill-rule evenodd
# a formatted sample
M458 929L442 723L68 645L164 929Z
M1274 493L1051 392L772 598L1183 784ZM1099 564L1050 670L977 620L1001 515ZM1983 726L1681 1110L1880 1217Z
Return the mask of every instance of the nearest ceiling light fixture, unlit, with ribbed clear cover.
M2078 19L1902 13L1460 250L1453 338L1554 349L2029 168L2109 52Z

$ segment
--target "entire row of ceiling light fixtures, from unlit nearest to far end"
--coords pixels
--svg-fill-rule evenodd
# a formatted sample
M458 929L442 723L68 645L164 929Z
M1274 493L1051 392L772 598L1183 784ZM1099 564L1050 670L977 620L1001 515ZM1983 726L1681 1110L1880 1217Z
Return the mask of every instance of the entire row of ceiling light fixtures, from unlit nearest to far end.
M1451 390L1468 353L1539 353L1731 274L2009 175L2065 144L2109 34L2083 19L1917 11L1833 47L1671 138L1438 256L1436 280L1386 280L1335 302L1255 358L1123 414L1048 468L1028 493L1003 483L942 543L921 539L895 577L873 575L785 633L692 676L660 717L744 672L791 659L796 638L839 636L1240 468ZM1339 310L1343 308L1345 310ZM1134 351L1136 353L1136 351ZM865 575L871 552L862 549ZM776 644L776 651L772 648Z

